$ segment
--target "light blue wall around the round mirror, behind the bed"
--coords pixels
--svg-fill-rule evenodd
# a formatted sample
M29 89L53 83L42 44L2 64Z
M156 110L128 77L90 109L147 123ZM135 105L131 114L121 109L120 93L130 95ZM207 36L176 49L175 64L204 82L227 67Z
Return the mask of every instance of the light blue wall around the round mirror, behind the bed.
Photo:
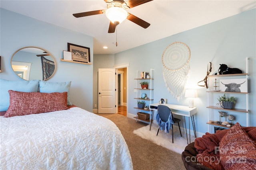
M0 55L2 73L0 78L21 80L10 65L13 53L26 46L36 46L49 51L56 61L56 71L49 82L72 81L70 99L72 104L92 111L93 65L61 62L67 43L90 48L93 63L93 37L35 20L5 9L0 9Z

